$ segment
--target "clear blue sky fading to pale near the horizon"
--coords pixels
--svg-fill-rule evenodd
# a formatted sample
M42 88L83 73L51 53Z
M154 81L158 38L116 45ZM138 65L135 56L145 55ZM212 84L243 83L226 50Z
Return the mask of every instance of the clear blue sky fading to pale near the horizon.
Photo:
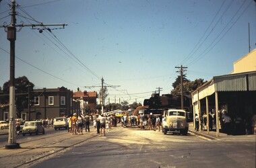
M233 71L256 44L254 0L16 0L15 77L35 89L108 89L105 104L143 104L173 89L179 69L190 81ZM9 25L11 1L0 2ZM67 26L47 26L67 24ZM18 27L19 28L19 27ZM46 28L50 28L46 30ZM42 33L38 31L42 29ZM249 31L250 30L250 31ZM250 32L250 34L249 34ZM250 36L249 36L250 35ZM255 63L256 64L256 63ZM9 41L0 28L0 87L9 81Z

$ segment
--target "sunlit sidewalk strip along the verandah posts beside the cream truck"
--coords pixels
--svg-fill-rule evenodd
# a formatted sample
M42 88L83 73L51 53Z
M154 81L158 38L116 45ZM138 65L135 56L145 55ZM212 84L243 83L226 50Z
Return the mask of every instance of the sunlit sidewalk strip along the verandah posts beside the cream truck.
M220 132L219 136L216 136L216 131L209 131L209 134L207 134L207 130L199 130L199 131L195 131L193 122L189 122L189 132L196 134L198 136L203 136L204 138L210 139L210 140L220 140L222 138L225 138L226 136L228 136L225 133Z

